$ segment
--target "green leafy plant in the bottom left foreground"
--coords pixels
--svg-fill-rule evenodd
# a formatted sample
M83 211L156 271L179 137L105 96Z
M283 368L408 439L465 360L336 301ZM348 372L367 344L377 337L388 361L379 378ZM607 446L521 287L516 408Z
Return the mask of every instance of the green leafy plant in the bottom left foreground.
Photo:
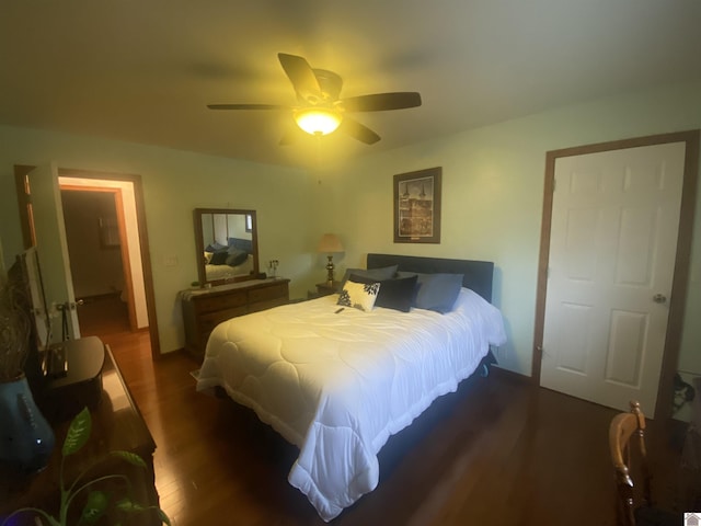
M69 519L72 515L69 514L71 506L76 503L79 496L84 496L84 501L80 518L78 524L95 524L100 518L105 515L113 517L116 515L133 515L135 513L157 513L161 521L161 524L171 525L168 515L158 506L142 506L138 502L134 501L130 495L131 484L129 479L124 474L104 474L94 479L88 479L89 472L95 468L100 462L92 464L84 469L76 480L70 484L67 484L64 479L64 467L66 460L71 455L76 455L85 445L90 437L90 431L92 428L92 419L90 411L87 408L76 415L71 421L66 439L64 441L64 447L61 448L61 465L59 471L59 489L60 489L60 503L58 508L58 516L53 516L44 510L36 507L22 507L12 512L0 526L11 523L13 517L19 514L32 513L37 517L36 524L49 525L49 526L68 526ZM116 457L133 466L146 469L146 462L141 457L129 451L112 451L112 457ZM101 485L107 481L116 481L124 491L124 495L118 498L118 494L114 492L114 488L111 491L101 489ZM119 523L117 523L119 524Z

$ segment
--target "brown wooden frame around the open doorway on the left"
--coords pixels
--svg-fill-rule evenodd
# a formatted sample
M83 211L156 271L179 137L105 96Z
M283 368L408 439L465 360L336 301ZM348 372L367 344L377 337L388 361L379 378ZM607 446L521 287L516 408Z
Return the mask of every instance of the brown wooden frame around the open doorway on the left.
M27 216L26 194L24 192L23 178L35 167L27 164L15 164L14 175L18 191L18 202L20 204L20 216L22 224L22 235L25 248L32 245L32 239L25 225L28 225L31 217ZM143 273L143 289L146 296L146 310L149 318L149 339L151 342L151 358L161 357L161 343L158 334L158 318L156 316L156 293L153 289L153 274L151 271L151 255L149 252L149 237L146 227L146 205L143 202L143 188L141 176L128 173L110 173L87 170L71 170L58 168L59 175L71 176L85 180L107 180L131 183L134 186L134 199L136 204L137 230L139 232L139 250L141 253L141 272ZM28 243L28 244L27 244Z

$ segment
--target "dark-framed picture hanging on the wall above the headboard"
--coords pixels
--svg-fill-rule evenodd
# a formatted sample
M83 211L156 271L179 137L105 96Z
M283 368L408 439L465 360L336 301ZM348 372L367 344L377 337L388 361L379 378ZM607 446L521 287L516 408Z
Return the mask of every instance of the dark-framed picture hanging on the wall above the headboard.
M394 242L440 243L440 167L394 175Z

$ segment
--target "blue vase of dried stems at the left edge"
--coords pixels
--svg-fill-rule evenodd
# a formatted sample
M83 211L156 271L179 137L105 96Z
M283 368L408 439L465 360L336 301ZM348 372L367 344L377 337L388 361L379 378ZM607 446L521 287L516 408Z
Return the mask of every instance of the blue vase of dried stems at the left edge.
M24 374L32 315L23 285L15 275L0 273L0 461L33 472L46 467L54 432Z

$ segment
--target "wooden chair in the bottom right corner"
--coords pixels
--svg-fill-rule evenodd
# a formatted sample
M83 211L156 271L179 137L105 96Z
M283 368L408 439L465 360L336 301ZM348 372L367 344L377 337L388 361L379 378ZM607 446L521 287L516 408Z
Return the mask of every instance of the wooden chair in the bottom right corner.
M681 515L654 505L652 474L645 448L645 415L640 403L631 401L631 411L613 416L609 426L611 461L618 487L618 524L623 526L680 525ZM631 455L631 450L633 454ZM642 487L635 487L633 474Z

